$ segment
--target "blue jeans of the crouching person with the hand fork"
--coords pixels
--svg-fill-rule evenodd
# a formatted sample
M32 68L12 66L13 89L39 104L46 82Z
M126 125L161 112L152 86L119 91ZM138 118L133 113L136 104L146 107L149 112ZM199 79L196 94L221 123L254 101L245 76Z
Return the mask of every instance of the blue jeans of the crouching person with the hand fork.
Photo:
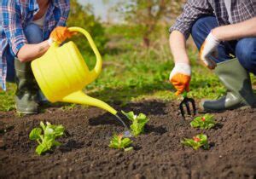
M207 38L213 28L218 26L216 17L205 16L195 21L192 26L191 35L198 49ZM240 61L241 66L248 72L256 75L256 38L241 38L237 41L222 42L218 45L218 57L211 57L216 63L228 61L234 57Z

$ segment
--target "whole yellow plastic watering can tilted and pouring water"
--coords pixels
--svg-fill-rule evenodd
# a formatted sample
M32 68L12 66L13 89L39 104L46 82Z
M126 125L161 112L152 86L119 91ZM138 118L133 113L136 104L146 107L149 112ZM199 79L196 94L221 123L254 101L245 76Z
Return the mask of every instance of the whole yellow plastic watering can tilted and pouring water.
M70 27L69 30L84 34L96 55L96 66L93 70L89 70L79 49L72 41L62 46L53 43L42 57L32 61L32 72L40 89L50 102L90 105L116 115L117 111L113 107L82 92L84 86L93 82L102 71L102 56L89 32L79 27Z

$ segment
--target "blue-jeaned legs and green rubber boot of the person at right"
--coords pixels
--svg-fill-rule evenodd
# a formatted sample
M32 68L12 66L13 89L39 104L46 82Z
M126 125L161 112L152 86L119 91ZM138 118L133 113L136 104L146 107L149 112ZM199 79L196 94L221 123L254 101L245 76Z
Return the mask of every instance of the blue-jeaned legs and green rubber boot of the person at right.
M216 26L218 26L217 21L211 17L201 18L195 22L192 27L192 37L198 49ZM239 61L230 57L230 54L236 55ZM255 98L247 70L255 74L255 43L246 45L241 42L237 45L230 42L221 43L218 45L218 56L212 56L212 60L217 63L215 73L226 87L227 95L218 100L202 101L201 108L205 111L221 111L242 106L253 107Z

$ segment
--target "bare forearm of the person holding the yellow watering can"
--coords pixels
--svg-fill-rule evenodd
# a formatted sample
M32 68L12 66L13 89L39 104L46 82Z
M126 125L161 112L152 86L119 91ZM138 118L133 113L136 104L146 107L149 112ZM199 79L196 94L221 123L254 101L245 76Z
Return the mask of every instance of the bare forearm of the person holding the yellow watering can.
M17 57L22 62L33 61L44 55L47 49L49 49L49 43L47 41L37 44L25 44L20 48Z

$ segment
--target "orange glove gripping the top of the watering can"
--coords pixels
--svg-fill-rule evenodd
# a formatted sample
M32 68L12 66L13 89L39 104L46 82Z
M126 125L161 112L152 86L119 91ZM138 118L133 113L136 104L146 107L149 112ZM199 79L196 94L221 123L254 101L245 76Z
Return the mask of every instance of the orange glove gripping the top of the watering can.
M67 26L57 26L49 36L49 39L56 43L63 43L67 38L71 38L74 32L70 32Z

